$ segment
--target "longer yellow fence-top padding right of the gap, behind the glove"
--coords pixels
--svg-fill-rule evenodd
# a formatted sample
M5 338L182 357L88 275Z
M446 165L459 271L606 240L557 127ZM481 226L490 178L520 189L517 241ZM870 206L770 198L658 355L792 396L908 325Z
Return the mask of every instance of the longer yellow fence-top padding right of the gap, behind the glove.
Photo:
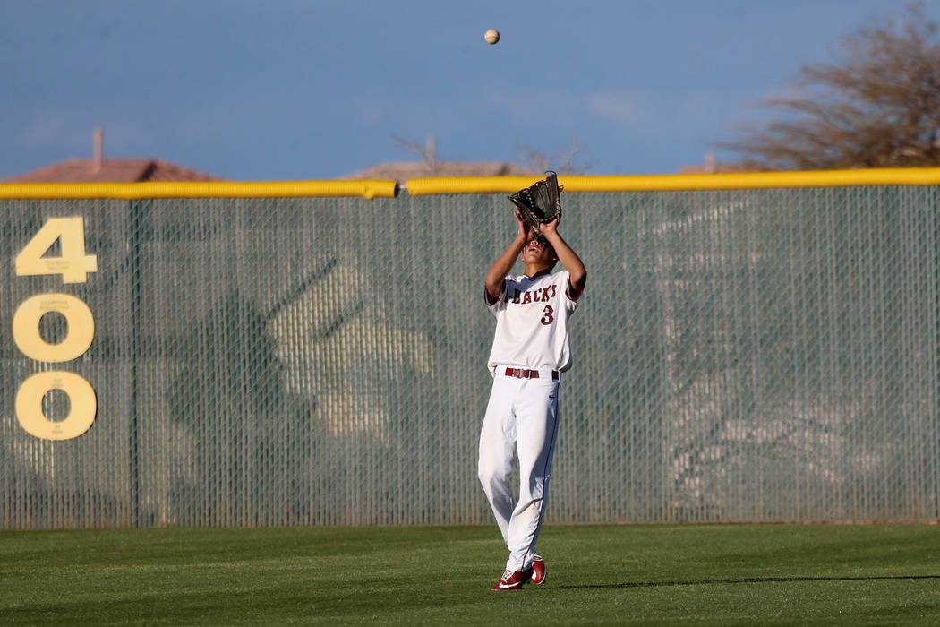
M540 177L412 179L408 194L495 194L516 192ZM847 187L857 185L936 185L940 168L883 168L808 172L748 172L650 176L559 176L566 192L656 192L758 189L775 187Z

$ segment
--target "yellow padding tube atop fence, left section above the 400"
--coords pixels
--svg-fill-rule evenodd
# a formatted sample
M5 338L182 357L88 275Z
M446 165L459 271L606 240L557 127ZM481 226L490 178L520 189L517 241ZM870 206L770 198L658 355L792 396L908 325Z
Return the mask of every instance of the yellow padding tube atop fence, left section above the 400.
M398 195L396 180L172 181L139 183L7 183L0 198L287 198Z

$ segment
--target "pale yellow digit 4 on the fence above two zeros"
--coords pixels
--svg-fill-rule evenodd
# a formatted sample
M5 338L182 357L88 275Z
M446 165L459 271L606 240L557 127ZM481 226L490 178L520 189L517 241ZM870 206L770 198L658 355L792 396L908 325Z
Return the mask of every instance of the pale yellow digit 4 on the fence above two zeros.
M62 243L59 257L44 257ZM88 273L98 272L98 256L85 254L85 219L81 216L49 218L16 256L16 275L61 274L63 283L85 283Z

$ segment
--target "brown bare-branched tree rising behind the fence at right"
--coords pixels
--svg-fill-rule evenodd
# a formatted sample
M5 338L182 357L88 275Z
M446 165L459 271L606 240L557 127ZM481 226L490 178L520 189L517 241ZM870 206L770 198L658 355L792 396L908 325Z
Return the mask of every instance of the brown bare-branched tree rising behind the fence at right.
M915 2L841 41L839 64L804 67L795 95L768 99L784 119L717 146L750 169L940 165L938 26Z

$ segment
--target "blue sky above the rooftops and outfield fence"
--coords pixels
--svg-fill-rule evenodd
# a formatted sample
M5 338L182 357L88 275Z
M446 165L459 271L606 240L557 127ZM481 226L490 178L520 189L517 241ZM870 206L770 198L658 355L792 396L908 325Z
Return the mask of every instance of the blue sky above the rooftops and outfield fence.
M430 136L444 160L670 174L907 4L0 0L0 179L90 157L95 127L105 157L230 180L340 178Z

